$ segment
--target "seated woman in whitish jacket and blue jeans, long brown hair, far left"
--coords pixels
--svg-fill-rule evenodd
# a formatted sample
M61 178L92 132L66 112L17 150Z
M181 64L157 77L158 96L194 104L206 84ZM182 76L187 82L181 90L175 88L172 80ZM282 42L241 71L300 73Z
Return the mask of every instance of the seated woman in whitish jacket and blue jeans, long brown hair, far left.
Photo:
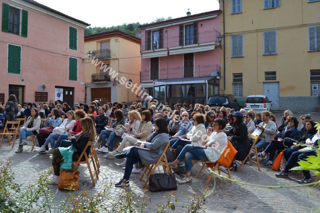
M41 125L41 118L38 114L36 108L31 109L31 116L27 119L26 123L20 128L20 136L19 136L19 148L16 153L20 153L23 151L23 145L27 145L28 142L26 138L30 135L36 135L39 133Z

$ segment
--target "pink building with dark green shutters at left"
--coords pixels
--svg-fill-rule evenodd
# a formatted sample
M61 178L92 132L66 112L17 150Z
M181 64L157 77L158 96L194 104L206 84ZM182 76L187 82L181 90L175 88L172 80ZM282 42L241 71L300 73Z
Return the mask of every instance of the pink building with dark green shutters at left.
M89 24L32 0L0 0L0 101L84 101L84 29Z

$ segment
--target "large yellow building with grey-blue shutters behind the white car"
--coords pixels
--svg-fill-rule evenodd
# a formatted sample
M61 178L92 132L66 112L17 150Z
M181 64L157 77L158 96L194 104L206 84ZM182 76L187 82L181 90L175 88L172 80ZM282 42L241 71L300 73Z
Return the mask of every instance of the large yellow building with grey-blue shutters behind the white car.
M320 1L219 2L221 93L238 100L267 95L271 110L315 111L320 95Z

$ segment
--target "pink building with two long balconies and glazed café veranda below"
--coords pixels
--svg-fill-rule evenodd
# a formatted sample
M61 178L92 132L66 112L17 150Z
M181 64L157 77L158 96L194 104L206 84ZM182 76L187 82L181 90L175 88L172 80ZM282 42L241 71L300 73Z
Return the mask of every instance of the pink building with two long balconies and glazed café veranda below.
M159 102L207 103L220 90L220 10L140 26L140 87Z

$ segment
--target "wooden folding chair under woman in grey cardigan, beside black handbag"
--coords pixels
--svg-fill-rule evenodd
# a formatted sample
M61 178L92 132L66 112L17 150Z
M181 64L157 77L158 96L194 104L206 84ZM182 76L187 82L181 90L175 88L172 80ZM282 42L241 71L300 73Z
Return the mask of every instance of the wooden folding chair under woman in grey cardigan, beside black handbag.
M144 182L143 184L143 188L145 188L147 186L147 183L149 182L149 179L150 179L150 175L152 175L155 171L156 171L156 168L158 166L163 166L163 169L164 169L164 172L165 172L165 167L167 168L167 171L168 173L171 173L171 170L169 168L169 164L168 164L168 159L167 159L167 156L165 154L165 152L167 151L167 149L169 148L170 146L170 142L167 143L167 145L165 146L161 156L159 157L158 161L155 163L155 164L147 164L141 177L140 177L140 180L143 179L144 176L146 176L146 181ZM146 175L148 171L148 174Z

